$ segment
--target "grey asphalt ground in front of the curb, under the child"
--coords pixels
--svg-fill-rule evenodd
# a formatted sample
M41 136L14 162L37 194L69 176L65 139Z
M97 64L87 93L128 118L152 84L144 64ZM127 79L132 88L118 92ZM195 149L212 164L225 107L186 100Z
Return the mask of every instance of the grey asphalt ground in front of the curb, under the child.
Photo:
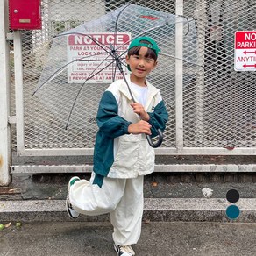
M256 224L149 222L143 223L137 256L254 256ZM109 222L15 223L0 231L3 256L111 256Z

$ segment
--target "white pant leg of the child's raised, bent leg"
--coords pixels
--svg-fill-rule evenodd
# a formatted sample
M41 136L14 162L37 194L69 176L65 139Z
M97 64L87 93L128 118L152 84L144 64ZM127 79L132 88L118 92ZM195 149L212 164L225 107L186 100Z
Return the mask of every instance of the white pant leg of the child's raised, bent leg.
M95 174L92 173L90 181L75 181L69 190L69 199L74 210L89 216L114 210L124 194L124 179L104 177L100 188L93 184L94 178Z

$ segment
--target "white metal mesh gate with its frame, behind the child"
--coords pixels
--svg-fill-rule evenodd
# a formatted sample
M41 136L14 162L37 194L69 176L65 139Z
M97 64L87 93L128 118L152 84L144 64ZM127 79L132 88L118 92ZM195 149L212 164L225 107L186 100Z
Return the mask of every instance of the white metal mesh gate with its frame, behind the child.
M44 103L38 96L32 96L32 92L45 67L54 35L130 2L43 0L43 29L13 32L11 88L15 106L12 115L16 118L12 122L16 125L12 128L13 150L17 150L18 155L93 154L97 103L105 88L84 89L68 130L64 128L70 108L66 99L74 96L74 87L67 85L60 93L56 84L56 90L51 90ZM176 58L167 70L167 86L161 90L170 119L164 143L155 150L156 154L254 155L255 79L253 72L234 71L234 34L256 30L256 3L249 0L138 0L136 4L174 14L177 21L188 18L196 25L196 49L189 47L191 42L186 37L185 25L177 22L175 26ZM198 65L182 61L194 53ZM89 101L90 107L84 108L85 101Z

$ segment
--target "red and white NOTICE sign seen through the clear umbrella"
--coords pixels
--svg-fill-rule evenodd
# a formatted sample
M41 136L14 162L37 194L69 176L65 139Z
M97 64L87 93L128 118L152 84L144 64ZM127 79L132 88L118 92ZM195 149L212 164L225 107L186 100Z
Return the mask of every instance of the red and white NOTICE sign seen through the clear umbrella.
M115 79L123 75L116 67L111 55L110 45L117 48L122 63L131 36L129 33L88 33L68 36L68 83L110 83L116 71ZM124 75L127 68L123 65Z

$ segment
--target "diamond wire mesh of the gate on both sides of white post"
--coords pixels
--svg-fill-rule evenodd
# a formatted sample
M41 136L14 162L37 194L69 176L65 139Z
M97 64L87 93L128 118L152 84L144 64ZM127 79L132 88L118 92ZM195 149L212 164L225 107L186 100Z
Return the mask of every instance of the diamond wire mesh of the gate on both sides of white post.
M80 83L68 83L67 71L32 96L47 63L53 37L101 18L131 1L43 0L43 28L22 32L25 148L93 148L96 110L107 84L88 83L68 113ZM136 5L177 17L175 1L142 1ZM186 147L254 147L256 116L253 72L234 71L234 34L255 30L256 3L245 0L183 1L183 142ZM126 20L140 29L134 20ZM138 26L138 27L136 27ZM175 32L175 31L174 31ZM195 39L191 40L191 33ZM155 35L154 35L155 36ZM172 35L175 38L175 33ZM161 47L175 53L175 40ZM161 147L175 147L175 58L160 57L149 80L161 89L169 122ZM13 94L14 95L14 94ZM42 99L43 98L43 99ZM15 142L14 142L15 144Z

